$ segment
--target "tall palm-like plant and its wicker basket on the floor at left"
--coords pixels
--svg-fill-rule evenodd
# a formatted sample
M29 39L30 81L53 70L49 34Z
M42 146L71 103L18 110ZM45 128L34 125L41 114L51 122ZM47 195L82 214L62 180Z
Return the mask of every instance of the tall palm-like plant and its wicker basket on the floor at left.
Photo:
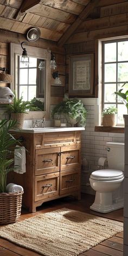
M15 146L19 140L15 139L10 129L16 127L16 120L2 120L0 122L0 224L15 222L21 214L23 191L6 193L7 175L18 169L14 166ZM18 155L18 157L21 157Z

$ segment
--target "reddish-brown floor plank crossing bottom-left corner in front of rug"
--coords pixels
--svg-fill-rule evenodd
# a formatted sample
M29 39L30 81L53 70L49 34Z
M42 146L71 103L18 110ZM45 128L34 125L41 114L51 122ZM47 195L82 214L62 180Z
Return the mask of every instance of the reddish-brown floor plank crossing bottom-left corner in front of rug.
M39 256L41 254L30 251L29 249L25 249L23 247L20 247L8 240L5 240L3 238L0 239L0 246L9 249L11 252L19 253L22 256ZM1 253L0 253L1 255Z

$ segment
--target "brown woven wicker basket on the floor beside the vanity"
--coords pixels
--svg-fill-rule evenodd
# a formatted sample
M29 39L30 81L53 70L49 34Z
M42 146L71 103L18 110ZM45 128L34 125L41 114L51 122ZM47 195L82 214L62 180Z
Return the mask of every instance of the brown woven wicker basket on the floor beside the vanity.
M14 223L21 215L23 191L0 193L0 225Z

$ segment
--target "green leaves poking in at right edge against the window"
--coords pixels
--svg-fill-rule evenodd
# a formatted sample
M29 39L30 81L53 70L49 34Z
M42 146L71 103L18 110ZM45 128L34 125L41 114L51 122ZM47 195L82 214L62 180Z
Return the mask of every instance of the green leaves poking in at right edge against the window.
M117 94L122 102L124 103L124 105L127 107L127 111L128 111L128 81L126 81L123 86L121 86L121 89L119 89L118 92L114 92L115 94Z

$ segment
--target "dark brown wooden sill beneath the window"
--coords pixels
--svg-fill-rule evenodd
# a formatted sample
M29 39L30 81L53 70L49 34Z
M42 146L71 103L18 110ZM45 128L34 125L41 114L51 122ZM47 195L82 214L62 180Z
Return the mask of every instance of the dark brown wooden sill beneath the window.
M95 126L95 132L113 132L113 133L124 133L124 126Z

